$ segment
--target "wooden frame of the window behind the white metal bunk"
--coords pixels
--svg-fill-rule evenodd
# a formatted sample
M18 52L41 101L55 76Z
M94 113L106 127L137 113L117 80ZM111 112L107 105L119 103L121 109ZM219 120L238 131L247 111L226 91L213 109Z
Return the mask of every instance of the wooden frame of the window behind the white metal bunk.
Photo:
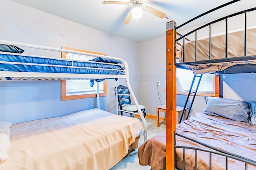
M106 55L102 53L96 53L92 51L85 51L85 50L80 50L80 49L73 49L69 47L61 47L62 49L67 49L67 50L73 50L73 51L80 51L84 53L92 53L92 54L98 54L98 55ZM61 52L61 58L66 59L67 58L67 53ZM104 80L104 92L100 93L100 97L102 96L107 96L107 80ZM66 95L66 80L61 80L61 100L75 100L75 99L84 99L84 98L96 98L97 94L80 94L80 95Z

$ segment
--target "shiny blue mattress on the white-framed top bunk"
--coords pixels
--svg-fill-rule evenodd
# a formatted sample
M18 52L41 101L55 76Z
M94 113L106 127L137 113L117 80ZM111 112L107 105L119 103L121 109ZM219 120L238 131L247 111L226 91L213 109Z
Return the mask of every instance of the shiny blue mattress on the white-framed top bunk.
M104 64L104 63L122 64L121 61L100 58L100 57L97 57L90 61L98 61L102 63L89 63L89 62L78 62L78 61L73 61L73 62L63 61L58 59L46 59L46 58L39 58L39 57L27 57L22 55L0 54L0 61L24 63L23 65L0 64L0 71L74 73L74 74L113 74L113 75L124 74L124 68L122 66ZM54 64L57 66L35 66L35 65L26 65L26 63ZM99 69L90 69L90 68L60 67L60 66L72 66L72 63L73 63L73 66L79 66L79 67L109 68L109 69L117 69L117 70L99 70Z

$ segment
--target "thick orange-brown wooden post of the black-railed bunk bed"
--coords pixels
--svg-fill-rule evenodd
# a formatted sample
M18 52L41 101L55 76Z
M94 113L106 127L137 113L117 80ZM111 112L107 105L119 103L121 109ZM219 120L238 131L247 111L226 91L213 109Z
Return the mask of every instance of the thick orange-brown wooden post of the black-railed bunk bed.
M176 22L166 24L166 170L174 170L176 131Z

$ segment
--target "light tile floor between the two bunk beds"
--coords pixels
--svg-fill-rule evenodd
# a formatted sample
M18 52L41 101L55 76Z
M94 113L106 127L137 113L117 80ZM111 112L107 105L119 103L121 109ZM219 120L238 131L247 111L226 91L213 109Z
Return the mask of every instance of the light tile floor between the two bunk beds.
M161 122L160 127L156 127L156 119L146 117L148 125L148 139L154 137L155 135L165 131L165 123ZM144 137L141 135L139 140L139 146L144 143ZM110 170L150 170L150 166L141 166L139 164L138 149L129 150L128 154L120 160L115 166Z

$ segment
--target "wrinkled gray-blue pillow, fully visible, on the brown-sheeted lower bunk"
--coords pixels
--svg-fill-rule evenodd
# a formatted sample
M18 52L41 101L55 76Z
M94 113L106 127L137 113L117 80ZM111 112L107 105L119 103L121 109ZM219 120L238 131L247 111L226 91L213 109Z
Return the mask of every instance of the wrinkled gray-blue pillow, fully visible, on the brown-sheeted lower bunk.
M248 102L217 97L205 97L204 99L206 101L204 113L249 123L250 109Z

